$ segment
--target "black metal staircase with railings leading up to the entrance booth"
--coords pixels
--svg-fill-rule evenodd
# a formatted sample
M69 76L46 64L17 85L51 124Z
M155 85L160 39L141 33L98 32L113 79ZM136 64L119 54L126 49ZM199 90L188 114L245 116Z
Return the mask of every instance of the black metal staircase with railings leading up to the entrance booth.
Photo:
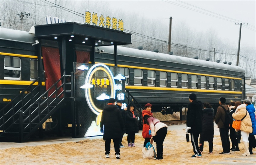
M34 88L32 86L38 78L2 108L0 141L24 142L40 130L38 128L60 108L66 98L65 77L62 76L42 95L39 85ZM59 82L61 82L60 86L58 86ZM30 93L24 96L24 92L28 89Z

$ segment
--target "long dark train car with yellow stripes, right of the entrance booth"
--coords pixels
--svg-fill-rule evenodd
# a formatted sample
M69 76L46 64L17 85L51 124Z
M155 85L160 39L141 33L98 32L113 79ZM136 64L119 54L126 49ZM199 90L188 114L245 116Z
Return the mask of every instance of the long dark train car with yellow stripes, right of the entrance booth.
M97 62L113 65L113 47L97 51ZM154 111L166 107L179 111L186 107L191 93L215 109L220 97L227 103L245 99L245 71L241 67L124 47L118 47L117 53L118 66L124 68L125 88L141 104L152 103Z

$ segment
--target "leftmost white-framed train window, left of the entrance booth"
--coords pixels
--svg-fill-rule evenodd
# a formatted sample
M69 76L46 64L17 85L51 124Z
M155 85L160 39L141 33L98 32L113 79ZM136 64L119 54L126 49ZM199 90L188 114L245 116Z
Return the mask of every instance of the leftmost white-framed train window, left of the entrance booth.
M19 57L4 57L4 79L20 80L21 60Z

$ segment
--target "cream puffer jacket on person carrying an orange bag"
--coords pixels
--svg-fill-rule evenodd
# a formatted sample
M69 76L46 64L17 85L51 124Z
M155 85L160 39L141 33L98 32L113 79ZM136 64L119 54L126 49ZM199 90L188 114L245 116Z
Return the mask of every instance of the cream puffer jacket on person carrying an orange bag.
M236 108L236 112L234 112L232 116L235 120L241 120L245 116L246 112L246 105L241 104ZM252 133L252 121L248 112L244 120L241 122L240 130Z

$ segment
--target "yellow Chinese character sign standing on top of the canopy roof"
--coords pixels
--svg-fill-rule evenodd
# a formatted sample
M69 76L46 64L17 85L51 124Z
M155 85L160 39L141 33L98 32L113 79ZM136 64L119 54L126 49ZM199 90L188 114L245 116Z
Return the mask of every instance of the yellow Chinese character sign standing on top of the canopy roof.
M124 31L124 22L122 19L117 19L115 17L110 18L110 17L103 17L103 15L101 14L98 17L97 13L91 13L89 11L85 11L85 15L84 15L84 23L85 24L92 24L95 26L100 26L100 27L105 27L108 29L114 29L114 30L120 30L120 31ZM99 23L98 23L99 21Z

